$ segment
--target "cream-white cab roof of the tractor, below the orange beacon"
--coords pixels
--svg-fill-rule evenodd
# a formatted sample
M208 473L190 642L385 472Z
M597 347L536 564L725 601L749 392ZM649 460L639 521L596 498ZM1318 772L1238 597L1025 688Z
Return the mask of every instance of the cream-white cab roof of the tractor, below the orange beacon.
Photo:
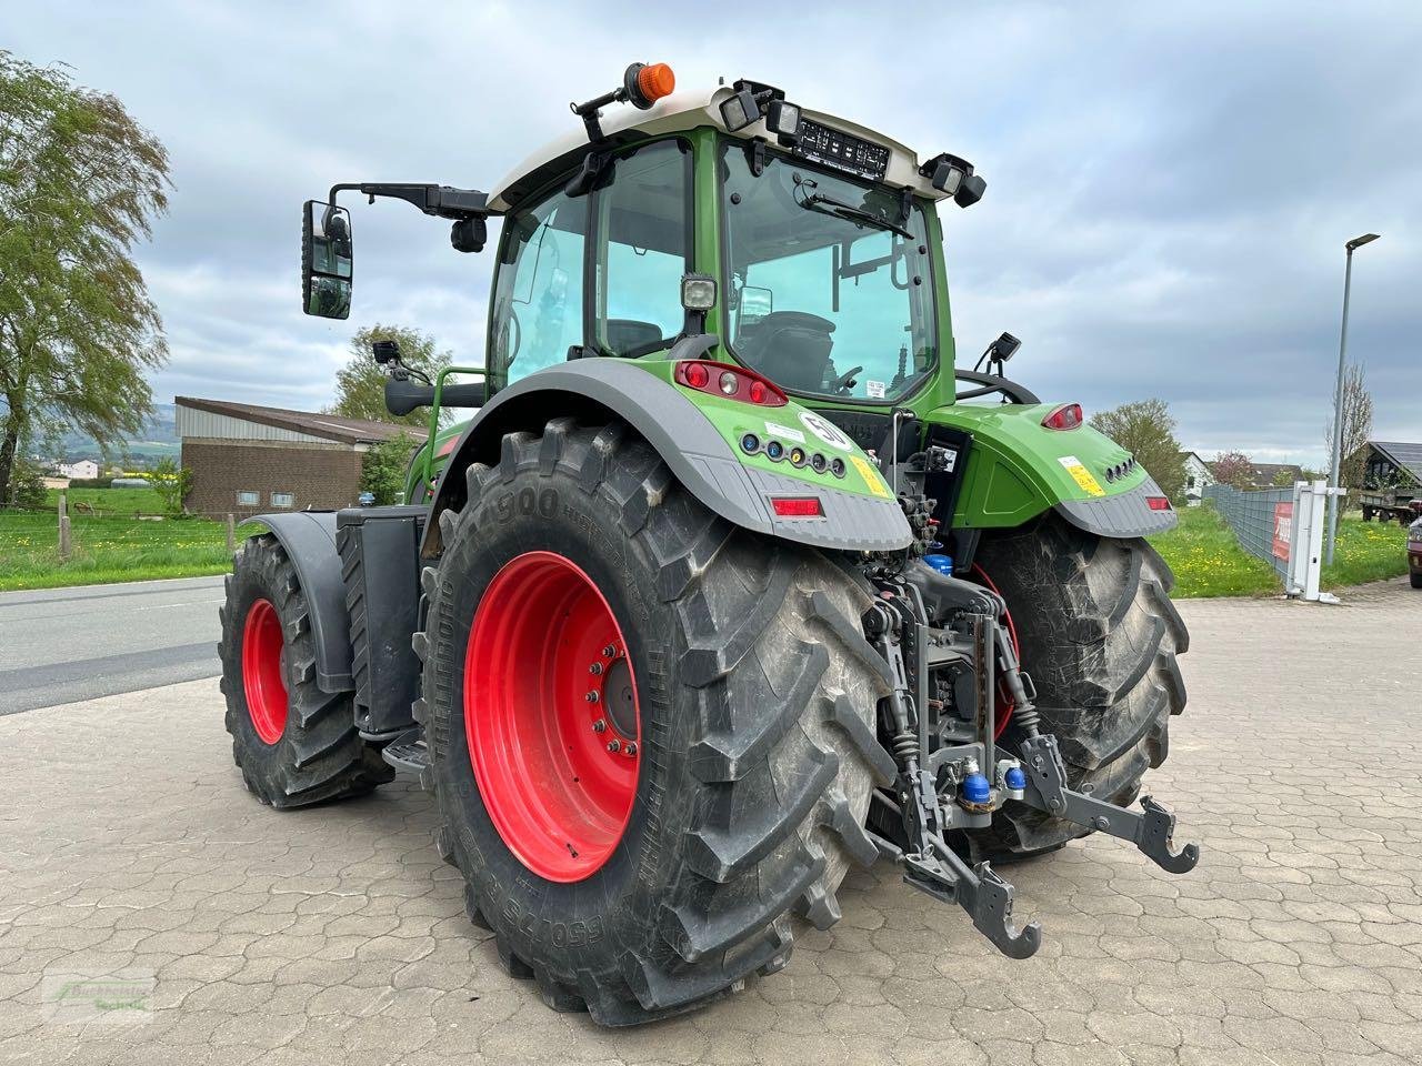
M677 134L695 129L697 126L712 126L725 132L720 108L721 102L732 91L729 85L718 85L710 92L704 90L673 92L670 97L658 99L647 111L638 111L629 104L609 104L603 109L602 117L603 136L609 144L617 146L644 136ZM830 129L852 134L887 148L889 166L884 171L883 179L886 185L897 189L912 189L914 193L934 200L948 199L947 193L934 189L929 179L919 173L920 159L907 145L836 115L811 111L809 108L801 108L801 114L803 118L819 122ZM775 135L766 131L764 118L727 135L745 141L758 136L769 144L775 144ZM576 166L590 146L592 142L587 138L587 129L582 121L573 117L567 134L543 145L493 186L489 192L489 208L495 212L506 212L516 206L546 181Z

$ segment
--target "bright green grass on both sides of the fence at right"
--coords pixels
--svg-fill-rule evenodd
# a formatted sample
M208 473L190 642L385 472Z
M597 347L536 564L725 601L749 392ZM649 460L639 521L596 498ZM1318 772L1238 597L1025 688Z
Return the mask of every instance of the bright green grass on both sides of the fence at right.
M1200 596L1280 596L1283 584L1267 563L1240 549L1234 533L1213 507L1186 507L1180 524L1150 543L1175 570L1176 598ZM1338 523L1334 564L1325 566L1324 588L1398 577L1408 569L1406 530L1344 515Z

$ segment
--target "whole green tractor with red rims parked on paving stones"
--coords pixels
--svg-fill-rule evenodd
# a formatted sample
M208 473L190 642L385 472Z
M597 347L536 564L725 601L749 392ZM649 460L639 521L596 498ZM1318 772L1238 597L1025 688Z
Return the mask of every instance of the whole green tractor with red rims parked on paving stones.
M1098 831L1192 868L1139 796L1185 706L1143 539L1175 513L1079 405L1003 375L1011 335L957 368L939 208L981 176L663 64L573 111L489 193L306 205L303 310L333 318L341 192L449 219L459 252L502 229L488 365L454 371L482 381L377 347L391 411L429 408L408 502L267 516L236 556L247 787L418 773L503 967L606 1025L781 969L852 866L1014 958L1041 931L993 861Z

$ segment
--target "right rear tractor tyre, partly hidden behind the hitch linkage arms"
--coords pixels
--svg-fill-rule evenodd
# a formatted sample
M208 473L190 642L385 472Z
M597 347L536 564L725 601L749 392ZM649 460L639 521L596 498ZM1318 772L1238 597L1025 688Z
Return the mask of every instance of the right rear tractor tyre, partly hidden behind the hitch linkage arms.
M1170 716L1185 709L1176 657L1189 634L1170 603L1170 567L1139 537L1098 537L1057 515L984 537L977 564L1007 600L1041 729L1057 736L1072 786L1135 802L1145 772L1165 762ZM1020 739L1010 719L1001 743ZM1008 858L1088 831L1008 802L990 829L967 836L975 857Z

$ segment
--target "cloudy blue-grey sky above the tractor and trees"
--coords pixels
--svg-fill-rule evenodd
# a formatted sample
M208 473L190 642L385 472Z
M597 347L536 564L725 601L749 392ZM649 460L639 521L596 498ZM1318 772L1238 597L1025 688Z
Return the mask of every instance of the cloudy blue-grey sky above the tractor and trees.
M758 10L759 9L759 10ZM419 325L478 362L492 256L354 208L356 310L300 314L299 219L334 181L489 188L631 60L752 77L977 163L943 209L967 361L1103 408L1162 397L1187 448L1321 463L1348 237L1375 435L1422 439L1422 4L65 3L0 47L67 63L172 155L139 260L175 394L314 408L350 334ZM122 13L119 16L119 11Z

